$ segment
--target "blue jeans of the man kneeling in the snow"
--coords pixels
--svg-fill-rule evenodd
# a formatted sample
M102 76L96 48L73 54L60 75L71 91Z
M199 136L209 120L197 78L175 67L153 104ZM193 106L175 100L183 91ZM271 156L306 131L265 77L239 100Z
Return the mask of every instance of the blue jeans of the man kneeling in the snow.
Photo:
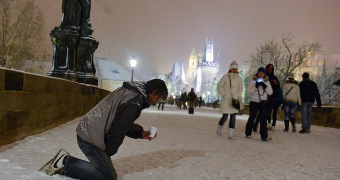
M117 173L110 156L100 148L82 140L77 135L78 145L90 162L68 156L65 161L65 176L78 180L116 180Z

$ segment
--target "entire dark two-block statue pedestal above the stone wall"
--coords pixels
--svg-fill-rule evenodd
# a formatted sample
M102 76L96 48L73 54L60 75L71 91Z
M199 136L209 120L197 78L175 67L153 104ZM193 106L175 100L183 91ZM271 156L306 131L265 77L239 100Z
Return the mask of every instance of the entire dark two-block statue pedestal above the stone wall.
M79 36L72 28L54 28L52 70L47 75L80 83L98 85L93 54L99 42L91 36Z

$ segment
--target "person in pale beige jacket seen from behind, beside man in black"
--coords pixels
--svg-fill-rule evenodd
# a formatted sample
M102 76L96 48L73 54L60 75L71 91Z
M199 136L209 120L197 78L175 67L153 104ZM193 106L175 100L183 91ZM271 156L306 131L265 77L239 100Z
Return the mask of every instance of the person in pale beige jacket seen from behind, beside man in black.
M300 97L300 88L298 81L294 80L294 74L289 74L288 80L283 86L283 94L284 94L284 130L288 132L289 130L289 119L292 123L292 131L295 133L295 117L294 112L297 106L301 106L301 97Z

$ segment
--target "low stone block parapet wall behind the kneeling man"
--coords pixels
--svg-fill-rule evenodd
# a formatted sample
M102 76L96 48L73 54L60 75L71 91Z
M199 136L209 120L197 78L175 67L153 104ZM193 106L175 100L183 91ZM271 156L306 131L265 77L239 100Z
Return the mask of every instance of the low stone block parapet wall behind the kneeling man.
M0 145L82 116L109 93L97 86L0 68Z

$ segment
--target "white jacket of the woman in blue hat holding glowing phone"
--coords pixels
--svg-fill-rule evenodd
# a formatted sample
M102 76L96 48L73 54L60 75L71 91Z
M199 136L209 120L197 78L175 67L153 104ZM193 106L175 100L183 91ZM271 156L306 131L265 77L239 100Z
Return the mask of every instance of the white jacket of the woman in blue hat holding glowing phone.
M267 85L266 89L263 89L262 86L256 88L255 83L258 79L257 76L253 76L253 79L248 83L247 93L250 95L250 101L260 103L263 100L268 100L268 95L272 95L272 85L269 82L269 77L266 75L264 78L264 83ZM260 92L260 97L259 97Z

